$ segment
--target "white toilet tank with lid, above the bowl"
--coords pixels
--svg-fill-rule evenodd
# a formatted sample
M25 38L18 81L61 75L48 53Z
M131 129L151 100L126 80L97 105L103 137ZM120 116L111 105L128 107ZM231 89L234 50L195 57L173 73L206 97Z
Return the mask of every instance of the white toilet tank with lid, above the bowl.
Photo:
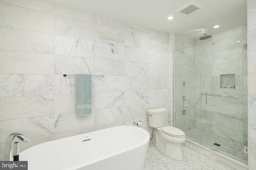
M166 108L150 109L148 110L148 123L150 127L163 127L165 122Z

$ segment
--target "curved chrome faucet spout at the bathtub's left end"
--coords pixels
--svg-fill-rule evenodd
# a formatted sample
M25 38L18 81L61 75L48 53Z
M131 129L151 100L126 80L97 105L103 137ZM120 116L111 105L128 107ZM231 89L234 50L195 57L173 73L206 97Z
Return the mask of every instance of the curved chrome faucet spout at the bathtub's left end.
M20 133L10 134L5 140L5 146L4 146L5 150L4 150L4 156L3 156L4 158L3 159L1 158L2 160L7 160L7 161L12 160L12 144L15 137L17 137L18 139L26 143L30 142L30 140L27 137L25 137Z

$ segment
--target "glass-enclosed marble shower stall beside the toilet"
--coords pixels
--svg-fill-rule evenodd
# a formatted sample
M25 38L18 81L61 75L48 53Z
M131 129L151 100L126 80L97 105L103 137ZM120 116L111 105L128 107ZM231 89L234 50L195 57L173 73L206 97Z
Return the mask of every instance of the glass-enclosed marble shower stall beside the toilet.
M173 55L174 127L244 163L248 162L246 43L246 27L241 26L194 44L177 42Z

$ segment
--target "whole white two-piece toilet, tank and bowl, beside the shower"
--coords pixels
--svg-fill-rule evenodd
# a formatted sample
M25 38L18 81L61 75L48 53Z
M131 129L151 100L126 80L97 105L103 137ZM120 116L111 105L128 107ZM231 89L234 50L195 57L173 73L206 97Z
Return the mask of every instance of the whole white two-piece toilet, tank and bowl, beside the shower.
M183 160L180 144L186 141L186 135L176 127L164 126L166 113L165 108L148 110L149 126L156 128L156 148L170 158Z

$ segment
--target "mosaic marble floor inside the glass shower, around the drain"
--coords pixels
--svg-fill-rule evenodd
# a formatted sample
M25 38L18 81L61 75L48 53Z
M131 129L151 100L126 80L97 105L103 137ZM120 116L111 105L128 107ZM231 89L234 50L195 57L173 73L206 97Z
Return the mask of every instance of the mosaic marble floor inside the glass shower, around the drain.
M195 141L201 141L200 137L200 129L190 129L185 131L186 136L190 137ZM214 143L220 144L220 146L213 145ZM218 149L222 153L227 153L229 156L236 158L244 163L248 161L248 154L244 153L244 146L241 143L237 143L230 139L220 137L215 135L213 132L206 133L202 131L202 144L206 144L208 147L212 147L212 149Z

